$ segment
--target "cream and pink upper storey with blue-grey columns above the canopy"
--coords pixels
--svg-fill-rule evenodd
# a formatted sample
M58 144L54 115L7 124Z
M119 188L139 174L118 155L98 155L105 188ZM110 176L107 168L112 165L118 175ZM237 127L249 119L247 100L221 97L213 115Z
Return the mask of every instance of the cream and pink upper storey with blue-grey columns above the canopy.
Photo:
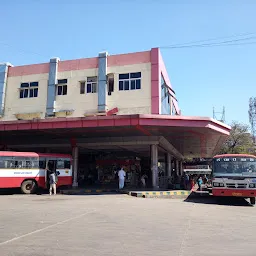
M158 48L17 67L0 64L0 121L99 114L180 114Z

